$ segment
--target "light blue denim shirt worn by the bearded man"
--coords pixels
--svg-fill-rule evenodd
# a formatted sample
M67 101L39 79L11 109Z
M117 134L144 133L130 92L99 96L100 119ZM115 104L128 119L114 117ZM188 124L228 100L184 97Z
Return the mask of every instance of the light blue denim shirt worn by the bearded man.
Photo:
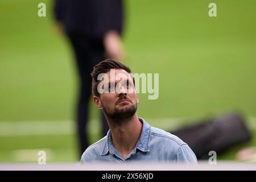
M197 163L194 152L180 138L164 130L148 125L143 118L141 137L135 148L123 159L112 143L111 131L86 148L81 157L81 164L88 162L184 162Z

